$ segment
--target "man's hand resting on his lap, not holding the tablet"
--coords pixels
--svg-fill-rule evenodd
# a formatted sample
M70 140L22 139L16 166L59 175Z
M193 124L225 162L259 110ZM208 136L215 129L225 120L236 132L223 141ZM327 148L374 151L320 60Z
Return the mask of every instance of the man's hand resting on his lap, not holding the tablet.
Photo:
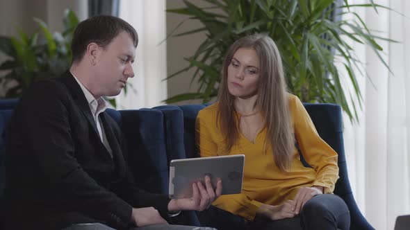
M154 207L133 209L131 218L138 227L151 224L168 224L168 222L164 220L161 215L159 215L158 210L154 209Z

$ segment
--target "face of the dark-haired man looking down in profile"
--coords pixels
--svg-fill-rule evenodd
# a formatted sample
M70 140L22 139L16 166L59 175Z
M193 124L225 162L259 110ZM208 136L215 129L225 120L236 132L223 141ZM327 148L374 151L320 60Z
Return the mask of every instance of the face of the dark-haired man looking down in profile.
M117 96L128 78L133 78L131 64L136 56L136 47L128 33L122 32L106 47L99 47L95 59L95 94Z

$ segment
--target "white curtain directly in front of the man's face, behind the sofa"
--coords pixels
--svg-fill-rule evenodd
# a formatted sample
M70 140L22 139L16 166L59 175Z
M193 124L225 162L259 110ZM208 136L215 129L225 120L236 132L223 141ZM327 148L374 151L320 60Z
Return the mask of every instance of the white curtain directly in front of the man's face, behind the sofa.
M122 0L120 17L136 28L139 42L133 70L124 91L115 98L117 109L138 109L161 105L167 97L167 53L165 0ZM160 44L161 43L161 44Z

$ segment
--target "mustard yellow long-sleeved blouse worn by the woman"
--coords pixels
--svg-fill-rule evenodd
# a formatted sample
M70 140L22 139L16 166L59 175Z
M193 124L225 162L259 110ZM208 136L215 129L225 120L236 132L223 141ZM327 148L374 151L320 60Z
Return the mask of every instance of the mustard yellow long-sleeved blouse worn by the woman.
M295 148L292 166L286 172L281 172L270 153L272 148L269 147L268 152L263 150L265 129L256 136L255 143L240 134L229 154L245 154L242 193L222 195L213 202L214 206L247 220L254 220L261 204L277 205L293 200L300 187L322 186L325 193L333 193L338 179L338 155L320 138L299 98L289 94L289 105L295 138L304 159L313 168L302 165ZM226 154L223 152L224 135L217 126L217 114L218 106L214 104L202 109L197 116L196 136L201 157Z

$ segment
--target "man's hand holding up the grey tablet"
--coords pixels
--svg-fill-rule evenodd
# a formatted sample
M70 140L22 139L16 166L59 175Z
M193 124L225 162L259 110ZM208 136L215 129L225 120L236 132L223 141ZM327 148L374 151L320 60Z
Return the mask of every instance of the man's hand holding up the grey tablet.
M218 179L216 188L211 184L211 178L205 176L205 187L202 182L192 184L192 197L172 199L168 203L168 211L195 210L204 211L222 193L222 181Z

